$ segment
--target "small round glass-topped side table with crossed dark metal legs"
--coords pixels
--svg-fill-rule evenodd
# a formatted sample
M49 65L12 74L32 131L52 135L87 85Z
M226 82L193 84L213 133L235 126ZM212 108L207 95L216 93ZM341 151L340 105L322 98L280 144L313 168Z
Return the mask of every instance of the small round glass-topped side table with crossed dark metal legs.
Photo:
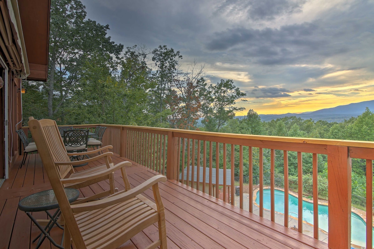
M65 194L69 200L69 202L74 202L75 200L78 199L79 197L79 191L76 189L64 189ZM55 214L51 215L48 210L51 209L56 209ZM58 224L57 220L59 216L61 215L61 210L59 208L55 193L53 192L52 189L50 190L45 190L42 192L30 194L29 196L23 198L18 202L18 209L21 211L24 211L28 217L34 222L34 224L42 231L34 240L33 243L39 238L39 241L36 245L36 248L39 248L40 245L42 245L44 239L47 237L47 239L50 240L50 242L58 247L58 248L63 248L62 247L62 242L61 245L58 245L50 236L49 232L53 228L54 225L57 225L59 228L64 229L61 227L61 225ZM50 218L49 222L45 227L42 227L39 222L30 214L30 212L39 212L39 211L45 211ZM43 236L42 236L43 234ZM62 236L63 240L64 236Z

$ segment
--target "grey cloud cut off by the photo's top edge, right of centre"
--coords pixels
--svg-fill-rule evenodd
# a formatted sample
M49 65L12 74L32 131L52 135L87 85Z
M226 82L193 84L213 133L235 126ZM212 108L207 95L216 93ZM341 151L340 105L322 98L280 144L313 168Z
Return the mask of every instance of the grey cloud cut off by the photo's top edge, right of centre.
M248 19L269 21L277 16L301 12L304 3L304 0L226 0L217 8L217 12L226 12L228 15L245 12Z

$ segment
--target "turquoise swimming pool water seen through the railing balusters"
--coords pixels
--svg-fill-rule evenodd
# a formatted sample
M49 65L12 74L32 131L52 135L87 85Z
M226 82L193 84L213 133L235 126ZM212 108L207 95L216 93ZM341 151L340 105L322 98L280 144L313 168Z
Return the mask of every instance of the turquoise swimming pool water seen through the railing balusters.
M264 208L270 210L270 189L264 189ZM260 203L260 191L257 192L256 203ZM288 195L288 211L289 215L297 218L298 212L297 197ZM275 190L275 211L284 214L284 192ZM303 200L303 220L313 224L313 203ZM352 212L351 217L351 242L354 245L365 246L366 243L366 223L362 218ZM318 226L328 232L328 207L318 205ZM374 241L374 229L373 229ZM374 245L374 244L373 244Z

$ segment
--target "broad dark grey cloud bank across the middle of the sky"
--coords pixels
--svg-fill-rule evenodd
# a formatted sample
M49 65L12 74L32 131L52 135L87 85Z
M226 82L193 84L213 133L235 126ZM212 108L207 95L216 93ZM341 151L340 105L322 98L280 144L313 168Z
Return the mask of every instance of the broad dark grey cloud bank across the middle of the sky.
M214 34L206 49L241 53L262 65L286 65L310 57L327 57L346 52L330 47L313 23L285 25L279 29L230 28Z

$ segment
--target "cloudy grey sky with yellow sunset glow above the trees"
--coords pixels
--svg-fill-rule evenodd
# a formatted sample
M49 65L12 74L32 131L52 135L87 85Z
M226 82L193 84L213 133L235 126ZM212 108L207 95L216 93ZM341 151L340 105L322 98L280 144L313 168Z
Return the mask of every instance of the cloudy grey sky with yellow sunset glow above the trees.
M374 0L82 0L125 47L166 45L186 70L232 79L245 111L282 114L374 96ZM374 110L372 110L374 111Z

